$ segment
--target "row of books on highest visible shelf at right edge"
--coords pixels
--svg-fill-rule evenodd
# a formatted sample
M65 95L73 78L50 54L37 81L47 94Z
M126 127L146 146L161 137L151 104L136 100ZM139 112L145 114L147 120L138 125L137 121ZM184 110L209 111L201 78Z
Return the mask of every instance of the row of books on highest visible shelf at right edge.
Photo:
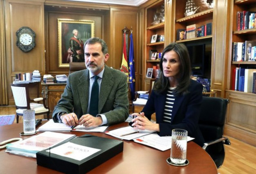
M252 11L239 11L237 12L237 30L255 28L256 12Z

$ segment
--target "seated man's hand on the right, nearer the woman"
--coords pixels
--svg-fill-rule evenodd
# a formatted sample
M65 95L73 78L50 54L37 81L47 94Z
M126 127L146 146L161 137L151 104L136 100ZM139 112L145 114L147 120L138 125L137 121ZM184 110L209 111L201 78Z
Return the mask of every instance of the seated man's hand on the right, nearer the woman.
M97 127L102 124L102 117L94 117L90 114L85 114L79 119L79 124L85 127Z

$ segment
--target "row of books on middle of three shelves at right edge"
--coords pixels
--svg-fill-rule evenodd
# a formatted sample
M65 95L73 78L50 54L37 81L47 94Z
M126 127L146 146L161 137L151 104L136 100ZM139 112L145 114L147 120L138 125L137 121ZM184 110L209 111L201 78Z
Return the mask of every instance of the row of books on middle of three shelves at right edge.
M233 42L233 61L255 61L256 41Z

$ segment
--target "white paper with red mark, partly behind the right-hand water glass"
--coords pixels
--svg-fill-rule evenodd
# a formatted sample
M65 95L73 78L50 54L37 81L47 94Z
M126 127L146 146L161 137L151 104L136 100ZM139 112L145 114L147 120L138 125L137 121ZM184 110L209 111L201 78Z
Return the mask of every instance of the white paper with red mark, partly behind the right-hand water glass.
M195 138L188 137L187 141L191 141ZM154 147L161 151L171 149L171 136L160 137L157 133L146 135L140 138L133 139L134 142Z

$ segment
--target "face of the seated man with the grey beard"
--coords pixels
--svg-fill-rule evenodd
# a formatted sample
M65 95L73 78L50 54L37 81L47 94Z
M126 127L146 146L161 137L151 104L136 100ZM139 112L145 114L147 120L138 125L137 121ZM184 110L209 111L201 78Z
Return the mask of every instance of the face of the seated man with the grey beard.
M104 69L104 62L108 58L109 54L103 54L101 44L85 45L85 66L94 75L98 75Z

